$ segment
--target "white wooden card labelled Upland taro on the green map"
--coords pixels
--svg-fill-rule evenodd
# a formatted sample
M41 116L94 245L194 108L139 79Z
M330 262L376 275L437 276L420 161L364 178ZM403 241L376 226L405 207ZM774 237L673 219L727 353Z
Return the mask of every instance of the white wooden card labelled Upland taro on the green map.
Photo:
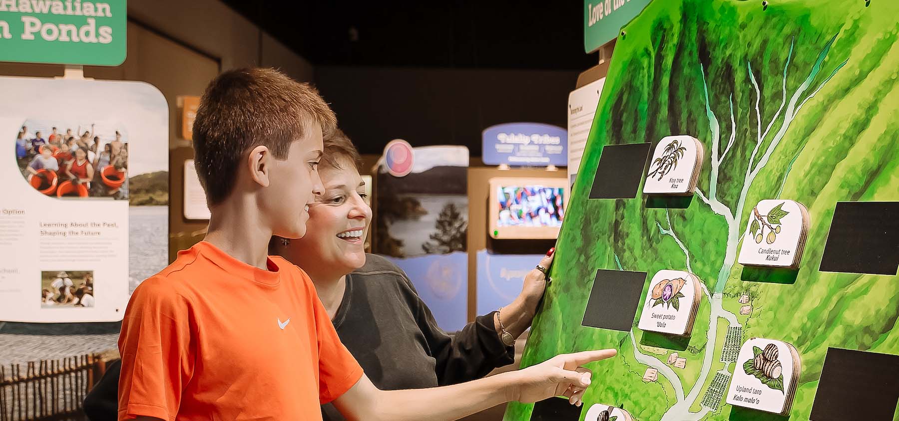
M740 348L727 403L787 415L793 405L802 361L792 345L750 338Z

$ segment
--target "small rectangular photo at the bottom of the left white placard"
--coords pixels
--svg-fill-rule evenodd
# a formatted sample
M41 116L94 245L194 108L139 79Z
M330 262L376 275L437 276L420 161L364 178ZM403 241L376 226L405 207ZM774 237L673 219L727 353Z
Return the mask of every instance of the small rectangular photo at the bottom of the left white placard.
M40 308L93 307L93 270L40 272Z

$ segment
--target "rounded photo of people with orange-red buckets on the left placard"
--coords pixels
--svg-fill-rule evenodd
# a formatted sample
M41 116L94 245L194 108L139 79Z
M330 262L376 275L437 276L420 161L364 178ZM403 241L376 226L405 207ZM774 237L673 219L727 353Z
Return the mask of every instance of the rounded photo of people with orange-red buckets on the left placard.
M128 198L128 142L119 128L28 120L15 157L22 177L45 195Z

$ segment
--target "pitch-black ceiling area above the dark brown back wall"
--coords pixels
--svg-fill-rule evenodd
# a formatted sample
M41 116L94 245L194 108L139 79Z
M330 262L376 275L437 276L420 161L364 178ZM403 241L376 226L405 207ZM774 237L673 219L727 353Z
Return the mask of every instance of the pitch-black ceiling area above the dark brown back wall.
M583 3L224 0L314 65L583 70Z

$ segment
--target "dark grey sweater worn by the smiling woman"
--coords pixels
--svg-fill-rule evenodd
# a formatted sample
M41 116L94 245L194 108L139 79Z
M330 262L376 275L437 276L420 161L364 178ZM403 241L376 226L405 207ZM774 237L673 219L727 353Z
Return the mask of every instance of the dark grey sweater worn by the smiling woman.
M514 361L514 348L503 346L496 335L493 312L449 335L403 270L372 254L364 267L346 276L343 303L333 321L343 345L381 390L467 382ZM92 421L117 419L119 373L120 364L111 364L85 399ZM330 404L322 406L322 417L343 420Z

